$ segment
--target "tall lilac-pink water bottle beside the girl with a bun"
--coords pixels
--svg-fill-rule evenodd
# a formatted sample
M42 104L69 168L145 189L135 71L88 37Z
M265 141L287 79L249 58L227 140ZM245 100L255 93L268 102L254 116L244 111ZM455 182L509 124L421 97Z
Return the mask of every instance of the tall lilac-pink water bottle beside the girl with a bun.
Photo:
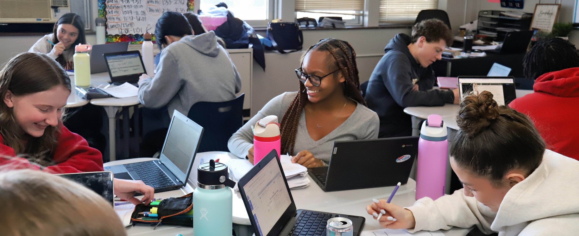
M448 139L446 124L440 115L428 115L422 123L418 140L418 168L416 170L416 200L444 195Z

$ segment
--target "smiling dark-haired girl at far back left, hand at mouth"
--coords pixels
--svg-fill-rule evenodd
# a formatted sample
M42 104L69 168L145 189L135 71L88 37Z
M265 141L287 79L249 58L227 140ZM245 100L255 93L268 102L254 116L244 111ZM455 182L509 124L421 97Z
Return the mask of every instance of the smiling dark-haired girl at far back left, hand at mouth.
M66 13L54 24L53 33L36 41L28 51L46 54L56 59L65 70L73 70L74 47L71 46L79 43L86 44L85 24L79 15Z

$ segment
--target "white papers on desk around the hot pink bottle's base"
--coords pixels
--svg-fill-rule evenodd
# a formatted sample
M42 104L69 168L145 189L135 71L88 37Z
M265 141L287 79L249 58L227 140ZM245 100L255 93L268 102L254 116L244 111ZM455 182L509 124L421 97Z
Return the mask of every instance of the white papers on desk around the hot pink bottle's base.
M298 163L291 163L291 156L288 155L281 155L280 162L290 188L305 188L310 185L310 180L307 178L306 167ZM254 167L245 159L230 159L225 164L227 164L229 170L231 170L235 181L239 181L239 179ZM234 189L239 191L237 185Z

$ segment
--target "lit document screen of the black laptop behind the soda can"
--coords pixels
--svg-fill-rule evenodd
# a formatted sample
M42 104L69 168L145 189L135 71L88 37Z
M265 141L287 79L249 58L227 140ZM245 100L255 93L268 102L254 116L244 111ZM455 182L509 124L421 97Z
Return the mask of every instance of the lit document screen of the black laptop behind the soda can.
M276 159L269 159L269 163L243 186L251 215L262 236L269 234L292 203Z

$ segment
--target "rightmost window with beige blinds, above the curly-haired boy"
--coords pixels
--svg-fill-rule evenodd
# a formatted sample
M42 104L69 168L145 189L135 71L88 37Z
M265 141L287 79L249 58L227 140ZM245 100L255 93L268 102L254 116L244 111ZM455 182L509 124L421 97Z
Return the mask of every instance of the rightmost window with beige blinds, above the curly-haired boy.
M380 23L414 23L424 9L438 9L438 0L380 0Z

